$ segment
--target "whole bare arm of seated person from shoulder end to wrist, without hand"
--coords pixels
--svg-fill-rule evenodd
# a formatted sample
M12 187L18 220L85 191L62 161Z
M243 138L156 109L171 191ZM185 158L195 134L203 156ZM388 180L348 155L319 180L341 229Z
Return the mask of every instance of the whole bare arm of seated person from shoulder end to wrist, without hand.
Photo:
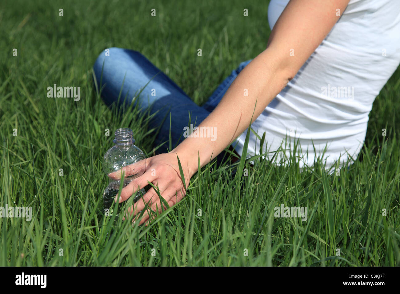
M261 114L321 44L339 19L338 11L344 11L348 2L290 0L271 32L268 48L240 72L215 110L200 124L216 127L216 140L190 137L172 150L185 162L190 176L197 171L199 155L204 166ZM245 89L248 96L244 96Z

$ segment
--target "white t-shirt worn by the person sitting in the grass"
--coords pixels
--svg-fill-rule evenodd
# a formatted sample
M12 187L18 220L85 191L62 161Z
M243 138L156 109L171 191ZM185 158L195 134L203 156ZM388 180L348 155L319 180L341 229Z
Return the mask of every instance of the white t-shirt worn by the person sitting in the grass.
M288 2L271 0L271 29ZM400 0L350 0L341 13L325 40L252 124L258 136L266 133L269 159L286 135L282 148L293 149L294 139L300 144L300 168L313 166L320 156L329 170L339 157L340 165L349 155L355 160L362 148L372 103L400 63ZM246 132L232 144L238 143L239 154ZM260 154L260 139L250 132L248 156L255 154Z

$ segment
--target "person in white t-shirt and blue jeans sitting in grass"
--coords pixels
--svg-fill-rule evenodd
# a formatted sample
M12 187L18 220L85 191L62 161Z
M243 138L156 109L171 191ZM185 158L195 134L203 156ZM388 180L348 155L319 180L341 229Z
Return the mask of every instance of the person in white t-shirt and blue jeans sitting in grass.
M250 132L249 155L272 158L282 147L281 158L294 151L300 155L300 168L312 167L316 158L328 171L335 162L351 163L364 143L372 103L400 62L399 11L398 0L271 0L266 49L242 62L203 106L139 52L102 52L94 72L106 104L132 102L140 92L136 103L142 109L152 106L152 126L160 126L155 143L166 142L171 131L174 146L167 150L164 144L166 153L147 158L147 171L122 190L119 201L149 181L168 205L176 204L198 170L198 158L204 166L229 145L241 154L250 123L257 135ZM190 124L216 132L184 138ZM260 150L264 133L267 149ZM129 174L133 168L124 170ZM146 203L160 208L153 189L130 212ZM148 218L146 212L140 223Z

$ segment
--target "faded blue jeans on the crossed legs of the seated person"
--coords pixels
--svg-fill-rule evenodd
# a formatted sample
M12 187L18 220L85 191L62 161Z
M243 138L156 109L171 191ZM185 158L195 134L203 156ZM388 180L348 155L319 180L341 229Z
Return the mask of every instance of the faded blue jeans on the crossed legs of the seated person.
M160 127L154 144L155 146L162 144L159 149L162 153L168 152L170 129L171 146L174 148L184 140L184 127L190 124L198 126L218 105L239 72L251 61L242 62L216 88L207 102L203 106L198 106L166 74L139 52L122 48L109 48L109 50L109 56L103 51L93 66L99 89L104 86L101 92L104 102L108 106L114 102L118 106L122 106L123 103L130 104L133 97L141 91L135 104L139 103L139 108L142 110L150 108L150 114L154 114L150 127L155 129Z

